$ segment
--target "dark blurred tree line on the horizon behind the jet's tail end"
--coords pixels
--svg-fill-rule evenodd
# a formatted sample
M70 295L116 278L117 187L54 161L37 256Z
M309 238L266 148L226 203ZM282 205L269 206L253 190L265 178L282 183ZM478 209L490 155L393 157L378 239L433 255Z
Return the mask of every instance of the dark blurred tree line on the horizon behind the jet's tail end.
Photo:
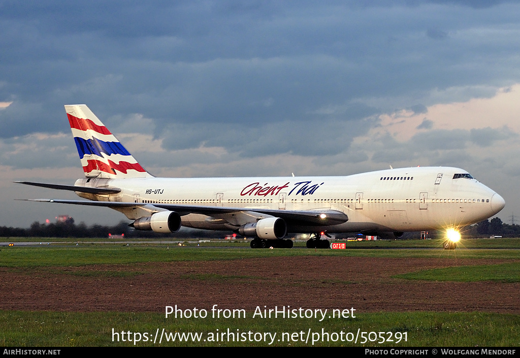
M181 228L175 234L161 234L153 231L139 231L128 226L127 222L121 221L115 226L90 225L85 223L76 225L74 219L67 221L41 224L34 222L29 228L0 227L0 237L97 237L108 238L109 235L124 234L124 238L224 238L231 232L213 232L206 230L195 230Z

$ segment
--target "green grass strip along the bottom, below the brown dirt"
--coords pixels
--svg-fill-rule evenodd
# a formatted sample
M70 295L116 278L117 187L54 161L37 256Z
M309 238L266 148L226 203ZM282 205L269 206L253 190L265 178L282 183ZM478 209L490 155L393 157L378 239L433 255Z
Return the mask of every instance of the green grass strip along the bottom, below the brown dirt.
M253 312L246 314L251 317ZM0 346L514 347L520 344L518 326L520 326L520 317L516 315L478 312L366 313L352 319L333 319L320 323L314 319L300 318L175 319L165 318L158 313L0 311ZM175 341L172 336L167 336L169 340L163 336L160 344L160 338L157 338L154 343L157 329L161 334L163 328L166 333L173 333L173 335L198 333L200 341L196 338L193 342L192 336L188 336L188 341L183 341L182 336L177 335ZM235 336L235 341L232 341L232 336L229 336L228 341L228 328L230 333L240 333L238 337ZM359 335L357 335L358 329ZM132 335L126 334L126 341L123 342L121 331L131 332ZM249 335L242 336L242 333L250 331L253 333L252 341ZM304 335L301 334L302 331ZM224 341L222 336L219 337L219 341L216 341L216 334L223 332ZM270 337L267 336L266 342L255 341L255 333L266 332L271 334ZM364 335L366 339L362 338L362 332L367 333ZM376 335L371 332L375 332ZM379 335L380 332L383 332L383 338ZM119 333L119 336L113 333ZM135 333L140 333L140 337L134 335ZM144 335L145 333L147 336ZM347 336L348 333L352 335ZM396 336L397 333L399 334ZM404 333L407 333L406 336L402 335ZM374 339L376 336L378 339ZM129 342L128 337L131 337ZM212 338L214 341L209 341ZM256 335L256 339L258 338L259 336ZM394 341L378 343L388 338ZM397 342L398 338L400 338L399 342ZM237 339L241 341L237 342ZM136 340L135 344L134 340ZM271 341L272 343L269 344Z

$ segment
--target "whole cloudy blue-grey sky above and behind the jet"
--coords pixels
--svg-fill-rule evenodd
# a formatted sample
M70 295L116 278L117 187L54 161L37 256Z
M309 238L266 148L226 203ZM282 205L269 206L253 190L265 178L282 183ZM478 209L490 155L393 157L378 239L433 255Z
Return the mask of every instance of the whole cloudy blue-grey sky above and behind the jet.
M109 209L12 181L83 177L65 104L158 176L464 168L520 223L520 4L0 0L0 225Z

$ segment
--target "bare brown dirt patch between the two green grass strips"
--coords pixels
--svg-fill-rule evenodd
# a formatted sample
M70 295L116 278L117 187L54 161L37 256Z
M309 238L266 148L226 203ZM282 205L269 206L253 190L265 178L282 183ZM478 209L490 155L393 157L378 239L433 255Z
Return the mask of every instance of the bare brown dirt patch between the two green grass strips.
M422 282L391 276L503 260L284 257L230 261L0 268L0 309L351 308L520 314L520 283Z

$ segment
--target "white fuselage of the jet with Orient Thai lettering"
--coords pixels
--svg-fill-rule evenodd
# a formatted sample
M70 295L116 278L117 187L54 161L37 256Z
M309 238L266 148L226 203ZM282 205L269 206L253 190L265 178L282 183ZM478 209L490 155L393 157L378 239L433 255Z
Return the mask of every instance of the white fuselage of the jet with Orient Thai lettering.
M456 174L463 174L454 178ZM88 185L86 179L76 185ZM153 204L255 208L274 210L336 210L348 221L320 230L340 232L406 232L459 227L495 215L503 198L458 168L417 167L349 176L243 178L125 178L98 180L121 188L111 195L80 196L99 201L150 203L150 208L116 209L128 219L153 212ZM96 184L98 187L102 187ZM162 209L159 209L159 211ZM216 216L218 218L218 215ZM229 229L213 217L182 216L182 225ZM292 225L289 232L315 232L315 226Z

